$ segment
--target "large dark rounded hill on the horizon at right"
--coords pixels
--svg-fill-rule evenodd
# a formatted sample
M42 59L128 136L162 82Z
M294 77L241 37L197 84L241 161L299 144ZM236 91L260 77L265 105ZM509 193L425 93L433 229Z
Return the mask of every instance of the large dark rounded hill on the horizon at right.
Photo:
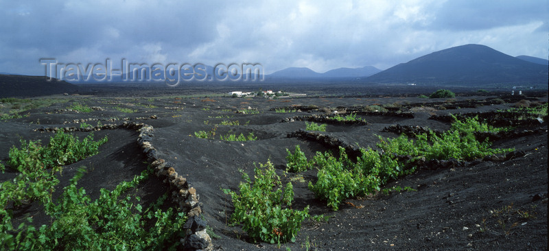
M423 84L533 84L546 86L548 67L484 45L462 45L398 64L366 82Z

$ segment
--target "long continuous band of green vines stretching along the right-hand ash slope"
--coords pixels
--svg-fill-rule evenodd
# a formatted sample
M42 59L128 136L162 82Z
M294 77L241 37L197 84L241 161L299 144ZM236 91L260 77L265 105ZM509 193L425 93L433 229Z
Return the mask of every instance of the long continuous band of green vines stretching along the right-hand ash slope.
M475 132L495 130L498 129L478 122L478 118L456 119L450 130L440 136L432 131L416 135L415 141L404 135L396 139L379 136L377 147L382 152L361 148L356 162L349 160L342 147L339 156L317 152L313 163L318 168L318 180L314 184L309 182L309 189L335 211L347 198L374 193L388 181L411 174L417 169L408 166L414 160L474 160L512 152L513 149L492 149L489 141L479 142L474 136ZM411 156L412 159L408 163L399 163L399 156ZM293 155L289 153L287 158L293 158Z

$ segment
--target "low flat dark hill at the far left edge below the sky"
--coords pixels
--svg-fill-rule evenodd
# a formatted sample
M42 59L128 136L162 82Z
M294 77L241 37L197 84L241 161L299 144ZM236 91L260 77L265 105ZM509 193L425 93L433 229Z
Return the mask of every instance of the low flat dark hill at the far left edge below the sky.
M0 97L35 97L75 93L78 86L45 76L0 74Z

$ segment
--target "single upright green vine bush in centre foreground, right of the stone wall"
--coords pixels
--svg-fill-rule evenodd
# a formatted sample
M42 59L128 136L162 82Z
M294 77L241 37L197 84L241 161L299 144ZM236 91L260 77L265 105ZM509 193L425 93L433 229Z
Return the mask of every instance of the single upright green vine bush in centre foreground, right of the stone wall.
M242 172L244 182L240 182L237 191L223 189L231 195L235 212L231 215L233 224L242 224L242 229L255 241L268 243L294 242L301 222L309 217L309 207L303 211L291 208L294 200L292 183L282 189L280 177L274 172L274 166L267 161L254 169L252 181Z

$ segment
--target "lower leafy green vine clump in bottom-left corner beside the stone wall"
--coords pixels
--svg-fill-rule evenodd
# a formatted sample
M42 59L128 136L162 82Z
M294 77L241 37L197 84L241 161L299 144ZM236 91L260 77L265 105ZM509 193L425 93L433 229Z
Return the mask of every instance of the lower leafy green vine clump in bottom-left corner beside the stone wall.
M49 226L36 228L20 224L13 228L4 217L1 225L3 250L175 250L185 234L185 214L173 208L161 211L167 195L143 210L139 197L127 195L148 178L143 171L130 182L121 182L113 191L101 189L100 198L91 201L77 188L85 169L79 169L57 202L44 203ZM125 195L126 194L126 195ZM3 215L6 216L6 215ZM27 219L32 222L32 218ZM176 240L176 241L174 241Z

